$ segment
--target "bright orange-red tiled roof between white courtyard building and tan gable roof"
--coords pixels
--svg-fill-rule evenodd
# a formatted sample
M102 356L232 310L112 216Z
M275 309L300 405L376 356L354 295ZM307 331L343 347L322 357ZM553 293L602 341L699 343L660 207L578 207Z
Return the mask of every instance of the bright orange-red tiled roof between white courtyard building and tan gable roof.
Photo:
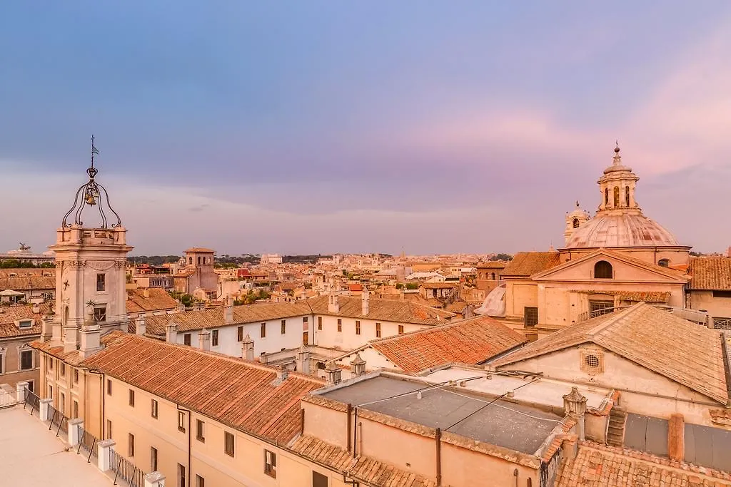
M371 347L404 372L416 373L450 362L480 364L526 341L493 318L480 316L375 340Z

